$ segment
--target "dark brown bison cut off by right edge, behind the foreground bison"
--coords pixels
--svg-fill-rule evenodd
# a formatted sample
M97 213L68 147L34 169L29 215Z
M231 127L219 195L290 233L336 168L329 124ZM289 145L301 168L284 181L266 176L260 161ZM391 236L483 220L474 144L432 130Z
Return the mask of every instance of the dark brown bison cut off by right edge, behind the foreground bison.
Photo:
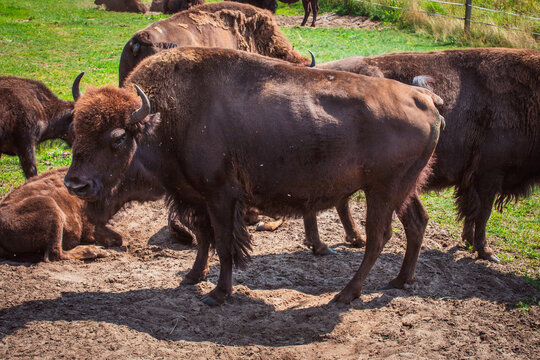
M502 210L540 182L540 52L488 48L397 53L319 67L380 71L404 83L420 74L434 80L430 85L444 99L441 113L447 128L427 188L455 187L459 218L465 219L463 240L474 245L481 259L496 261L485 237L493 203Z

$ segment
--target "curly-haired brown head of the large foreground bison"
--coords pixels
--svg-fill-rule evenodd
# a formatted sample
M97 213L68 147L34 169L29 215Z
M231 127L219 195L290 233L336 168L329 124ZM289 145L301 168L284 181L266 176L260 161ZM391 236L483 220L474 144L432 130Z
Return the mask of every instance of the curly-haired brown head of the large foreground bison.
M159 122L148 97L136 89L138 97L127 89L91 89L75 103L73 160L64 179L71 194L87 201L111 196L138 141Z

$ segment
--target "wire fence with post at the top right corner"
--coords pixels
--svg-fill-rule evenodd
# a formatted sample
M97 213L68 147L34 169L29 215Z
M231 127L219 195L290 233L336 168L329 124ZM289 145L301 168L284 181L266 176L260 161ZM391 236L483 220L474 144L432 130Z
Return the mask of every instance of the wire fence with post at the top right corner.
M345 0L345 1L347 1L347 0ZM370 4L370 5L377 6L377 7L388 8L388 9L424 13L424 14L427 14L427 15L430 15L430 16L440 16L440 17L445 17L445 18L463 20L464 21L464 29L465 29L466 33L468 33L470 31L470 24L474 23L474 24L481 24L481 25L486 25L486 26L503 28L503 29L507 29L507 30L528 32L528 33L532 34L535 37L540 37L540 32L537 32L538 30L528 31L528 30L526 30L524 28L518 28L518 27L508 26L508 25L493 24L493 23L489 23L487 21L473 20L472 10L475 9L475 12L477 12L477 11L486 11L486 12L495 13L495 14L502 15L502 16L508 15L508 16L519 18L520 20L525 19L525 20L528 20L529 22L533 22L536 25L535 26L536 29L540 28L540 26L539 26L540 25L540 17L535 17L535 16L531 16L531 15L525 15L525 14L516 14L516 13L513 13L513 12L507 12L507 11L503 11L503 10L489 9L489 8L485 8L485 7L481 7L481 6L476 6L476 5L472 4L473 0L464 0L463 3L456 3L456 2L442 1L442 0L425 0L425 3L436 3L436 4L452 6L454 8L452 12L454 12L454 13L457 12L455 7L465 7L463 17L462 16L456 16L456 15L449 15L447 13L442 13L441 14L441 13L437 13L437 12L434 12L434 11L426 11L426 10L419 10L419 9L409 9L409 8L403 8L403 7L394 6L394 5L380 4L380 3L373 2L373 1L368 1L368 0L356 0L356 1L362 2L362 3L365 3L365 4Z

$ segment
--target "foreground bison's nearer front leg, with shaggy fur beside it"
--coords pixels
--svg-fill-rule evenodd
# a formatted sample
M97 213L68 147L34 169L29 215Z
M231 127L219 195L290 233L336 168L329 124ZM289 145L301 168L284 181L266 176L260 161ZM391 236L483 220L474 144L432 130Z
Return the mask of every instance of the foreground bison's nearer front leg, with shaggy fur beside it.
M221 193L208 203L208 214L214 229L216 252L219 256L219 278L214 290L203 296L202 301L209 306L223 304L232 294L232 246L234 222L236 219L236 199L228 193ZM243 219L238 219L243 222Z

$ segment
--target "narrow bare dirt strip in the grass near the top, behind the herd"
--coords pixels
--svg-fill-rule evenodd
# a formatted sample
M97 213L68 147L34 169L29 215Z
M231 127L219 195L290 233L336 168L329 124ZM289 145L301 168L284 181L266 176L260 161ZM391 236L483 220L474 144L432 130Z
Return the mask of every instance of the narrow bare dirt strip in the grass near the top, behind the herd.
M291 16L291 15L276 15L276 22L279 26L282 27L294 27L300 26L302 23L303 16ZM311 24L313 18L310 16L308 26ZM382 27L379 21L371 20L365 16L351 16L338 14L322 14L317 16L317 22L315 23L316 27L322 28L366 28L366 29L375 29Z

